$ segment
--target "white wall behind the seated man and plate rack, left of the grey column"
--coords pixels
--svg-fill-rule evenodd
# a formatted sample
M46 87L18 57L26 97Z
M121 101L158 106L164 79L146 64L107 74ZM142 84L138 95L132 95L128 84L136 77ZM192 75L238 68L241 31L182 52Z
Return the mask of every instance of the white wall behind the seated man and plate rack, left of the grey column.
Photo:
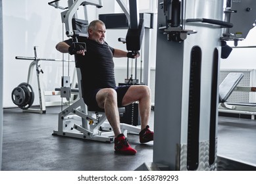
M140 0L143 2L144 0ZM16 60L15 57L34 57L34 46L38 46L39 58L57 58L63 56L56 51L55 45L63 40L63 24L61 23L61 9L55 9L48 5L49 0L3 0L3 107L15 106L11 101L11 92L14 87L27 81L28 66L32 60ZM156 9L156 1L148 1L149 10ZM154 2L154 3L152 3ZM115 0L103 1L103 8L97 9L88 6L89 21L97 18L99 13L122 12ZM144 2L145 3L145 2ZM60 1L62 7L67 7L67 1ZM142 4L143 5L143 4ZM142 6L147 8L147 6ZM78 11L78 18L83 12ZM156 24L156 21L155 21ZM156 34L156 33L155 33ZM153 43L156 37L153 35ZM125 37L126 30L107 30L107 42L116 48L126 49L125 45L117 41L118 37ZM64 35L64 39L66 39ZM154 45L154 44L153 44ZM155 62L155 48L150 53L153 63ZM68 59L68 55L64 55ZM71 57L71 59L73 59ZM126 67L126 58L121 62L115 60L116 66ZM51 61L40 61L43 89L51 91L61 86L62 63ZM66 66L67 64L65 64ZM153 64L155 66L155 64ZM67 67L66 67L67 68ZM70 65L74 68L74 64ZM73 70L70 69L70 76ZM68 74L65 69L64 76ZM36 84L36 72L33 76L32 87L35 92L34 104L39 104L38 90ZM49 97L48 97L49 98ZM46 99L49 101L50 99Z

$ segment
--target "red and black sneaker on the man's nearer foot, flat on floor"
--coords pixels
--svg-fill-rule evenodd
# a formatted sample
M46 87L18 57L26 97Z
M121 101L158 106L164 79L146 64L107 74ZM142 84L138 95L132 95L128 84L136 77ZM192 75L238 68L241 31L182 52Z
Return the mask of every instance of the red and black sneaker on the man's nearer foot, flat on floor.
M137 150L130 147L128 139L121 133L115 138L115 152L119 154L136 154Z

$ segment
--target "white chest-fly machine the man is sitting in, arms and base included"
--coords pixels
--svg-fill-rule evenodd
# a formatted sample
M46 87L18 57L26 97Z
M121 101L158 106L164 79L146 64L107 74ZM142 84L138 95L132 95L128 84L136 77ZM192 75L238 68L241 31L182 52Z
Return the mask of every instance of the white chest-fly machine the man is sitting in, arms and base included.
M122 5L122 2L123 1L118 1L120 5ZM50 2L49 5L57 9L65 10L61 12L61 18L63 24L65 24L66 35L68 37L72 37L73 42L76 43L78 36L88 36L87 28L89 22L87 14L87 5L92 5L97 8L101 8L103 7L103 1L68 0L68 7L64 8L59 6L59 0L56 0ZM80 6L84 7L85 20L77 18L78 14L76 13L76 11ZM135 7L137 9L136 0L132 0L130 2L130 6ZM128 14L128 11L126 12L126 14ZM138 51L140 50L142 40L142 37L140 37L140 35L143 35L143 20L140 19L139 22L137 11L132 16L128 16L128 18L130 18L133 22L132 28L128 30L128 37L135 37L136 39L129 39L129 41L126 41L126 46L132 45L130 49L128 49L129 51ZM135 22L137 23L134 24ZM86 48L86 45L84 46ZM80 139L89 139L93 141L113 143L115 136L112 127L106 122L107 117L105 115L105 112L101 112L101 110L98 109L91 109L90 107L86 106L82 98L82 76L80 68L76 68L76 74L78 78L78 89L74 89L74 92L78 93L78 100L76 100L70 106L67 106L66 108L61 110L61 112L59 113L58 129L53 131L53 135L61 135L64 137L75 137ZM67 99L69 99L71 93L69 76L63 76L62 80L63 85L61 86L61 97L66 97ZM120 108L119 112L123 113L123 109L124 108ZM127 135L127 133L140 133L140 127L132 126L130 124L122 123L120 124L120 129L122 133L124 133L124 135Z

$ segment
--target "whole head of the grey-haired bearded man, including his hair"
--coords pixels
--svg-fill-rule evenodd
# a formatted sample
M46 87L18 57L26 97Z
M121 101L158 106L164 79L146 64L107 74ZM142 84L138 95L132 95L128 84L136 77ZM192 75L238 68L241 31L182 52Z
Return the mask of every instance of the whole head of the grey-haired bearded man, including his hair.
M97 41L97 43L104 43L105 33L106 27L101 20L93 20L88 26L88 38Z

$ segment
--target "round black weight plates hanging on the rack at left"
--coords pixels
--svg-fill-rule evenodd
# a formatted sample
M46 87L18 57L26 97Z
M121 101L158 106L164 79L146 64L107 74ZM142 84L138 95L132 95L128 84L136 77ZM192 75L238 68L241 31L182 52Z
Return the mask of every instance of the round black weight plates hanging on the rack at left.
M20 83L12 92L13 103L26 110L34 103L34 91L29 83Z

